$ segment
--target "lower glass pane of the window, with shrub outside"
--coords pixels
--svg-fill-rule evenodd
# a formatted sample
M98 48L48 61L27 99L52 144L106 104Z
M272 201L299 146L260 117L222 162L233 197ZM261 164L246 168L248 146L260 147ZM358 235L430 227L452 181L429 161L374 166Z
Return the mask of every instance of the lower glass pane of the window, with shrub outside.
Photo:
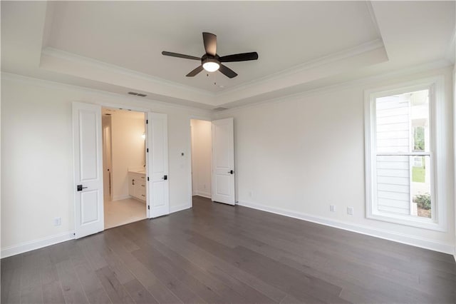
M377 156L378 211L431 217L430 156Z

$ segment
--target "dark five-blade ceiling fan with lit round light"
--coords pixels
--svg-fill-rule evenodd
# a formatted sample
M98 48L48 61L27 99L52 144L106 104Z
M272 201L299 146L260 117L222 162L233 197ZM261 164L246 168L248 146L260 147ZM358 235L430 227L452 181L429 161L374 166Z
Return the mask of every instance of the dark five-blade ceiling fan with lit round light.
M169 51L162 51L162 55L184 59L200 60L201 65L193 71L191 71L189 74L187 74L187 77L193 77L204 69L208 72L214 72L219 70L225 76L229 78L234 78L237 76L236 72L234 72L232 69L229 69L227 66L224 66L222 62L249 61L258 59L258 54L256 51L252 53L233 54L220 57L219 55L217 55L217 36L211 33L204 32L202 34L202 40L204 42L204 49L206 50L206 54L204 54L201 58L184 54L172 53Z

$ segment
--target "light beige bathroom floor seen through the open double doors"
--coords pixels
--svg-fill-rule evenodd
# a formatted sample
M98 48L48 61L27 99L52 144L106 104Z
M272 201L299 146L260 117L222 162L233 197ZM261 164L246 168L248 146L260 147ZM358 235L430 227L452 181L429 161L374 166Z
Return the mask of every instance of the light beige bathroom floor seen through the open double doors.
M120 201L105 201L105 229L145 219L145 202L126 198Z

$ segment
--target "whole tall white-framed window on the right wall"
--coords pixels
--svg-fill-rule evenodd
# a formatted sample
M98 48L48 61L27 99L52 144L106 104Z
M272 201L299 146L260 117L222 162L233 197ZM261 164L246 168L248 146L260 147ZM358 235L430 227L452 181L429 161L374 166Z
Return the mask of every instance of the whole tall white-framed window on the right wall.
M435 183L444 159L436 153L442 111L441 78L366 92L368 218L445 229L445 189Z

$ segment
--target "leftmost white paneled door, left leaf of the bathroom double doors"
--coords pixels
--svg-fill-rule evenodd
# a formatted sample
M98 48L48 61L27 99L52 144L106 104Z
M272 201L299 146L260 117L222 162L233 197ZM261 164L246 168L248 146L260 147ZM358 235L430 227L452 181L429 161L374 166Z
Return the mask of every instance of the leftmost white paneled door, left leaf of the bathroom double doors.
M104 229L101 106L73 103L75 236Z

